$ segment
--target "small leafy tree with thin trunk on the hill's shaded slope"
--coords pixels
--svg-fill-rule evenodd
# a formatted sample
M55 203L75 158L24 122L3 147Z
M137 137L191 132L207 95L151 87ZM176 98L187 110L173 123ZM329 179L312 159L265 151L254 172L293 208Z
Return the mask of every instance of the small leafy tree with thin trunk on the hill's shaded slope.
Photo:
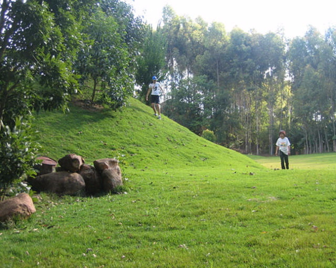
M118 24L112 16L97 9L88 21L85 33L87 46L79 52L77 69L83 83L93 82L90 101L94 103L97 92L100 92L98 99L101 103L119 108L131 95L133 86L128 79L131 59L118 32Z

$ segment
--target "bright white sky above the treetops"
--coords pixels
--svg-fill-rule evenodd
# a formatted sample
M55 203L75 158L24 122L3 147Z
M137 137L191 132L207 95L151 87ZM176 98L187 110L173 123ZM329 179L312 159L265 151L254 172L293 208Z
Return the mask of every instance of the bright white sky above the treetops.
M321 34L336 26L335 0L125 0L135 9L135 14L155 28L162 17L165 5L170 5L178 16L195 20L202 17L209 24L222 22L227 32L238 26L245 32L277 32L283 28L287 38L303 37L308 25Z

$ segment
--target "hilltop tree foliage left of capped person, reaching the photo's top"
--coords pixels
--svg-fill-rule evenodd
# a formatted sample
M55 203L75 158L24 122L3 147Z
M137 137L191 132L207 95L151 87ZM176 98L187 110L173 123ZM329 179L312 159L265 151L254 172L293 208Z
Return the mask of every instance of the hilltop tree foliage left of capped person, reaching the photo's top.
M141 40L141 21L119 1L102 1L90 15L84 24L85 42L78 52L76 70L82 86L91 86L90 102L116 110L134 90L133 62L136 42Z

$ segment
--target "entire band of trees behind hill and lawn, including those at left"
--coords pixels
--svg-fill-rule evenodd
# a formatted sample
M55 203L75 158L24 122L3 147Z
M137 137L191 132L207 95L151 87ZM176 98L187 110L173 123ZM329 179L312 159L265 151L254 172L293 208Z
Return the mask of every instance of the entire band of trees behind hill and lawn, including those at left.
M2 0L0 15L2 144L27 131L32 111L66 110L72 97L145 102L156 75L163 114L218 144L273 154L284 129L293 153L336 151L335 28L291 40L226 32L166 6L153 29L120 0Z

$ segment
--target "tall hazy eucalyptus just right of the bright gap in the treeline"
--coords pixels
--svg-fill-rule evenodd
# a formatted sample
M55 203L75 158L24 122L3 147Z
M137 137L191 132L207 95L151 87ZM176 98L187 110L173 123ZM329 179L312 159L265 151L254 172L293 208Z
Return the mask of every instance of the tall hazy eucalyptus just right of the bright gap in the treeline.
M313 27L289 47L290 71L294 74L294 114L301 125L305 153L322 152L329 143L326 127L331 103L324 72L329 62L323 61L325 48L323 37Z

